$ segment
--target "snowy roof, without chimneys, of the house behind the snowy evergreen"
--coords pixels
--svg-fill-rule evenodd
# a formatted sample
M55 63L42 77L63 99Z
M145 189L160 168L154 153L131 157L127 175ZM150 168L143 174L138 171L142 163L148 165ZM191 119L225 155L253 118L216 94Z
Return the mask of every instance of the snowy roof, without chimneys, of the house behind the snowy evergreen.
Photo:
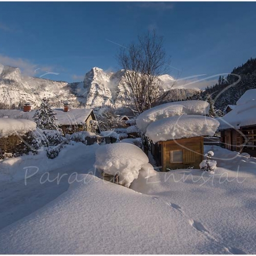
M57 125L70 125L70 124L84 124L87 118L92 113L92 109L70 109L64 112L63 109L53 109L56 113L55 121ZM25 118L33 120L36 110L24 112L23 110L0 110L0 116L7 116L9 118Z

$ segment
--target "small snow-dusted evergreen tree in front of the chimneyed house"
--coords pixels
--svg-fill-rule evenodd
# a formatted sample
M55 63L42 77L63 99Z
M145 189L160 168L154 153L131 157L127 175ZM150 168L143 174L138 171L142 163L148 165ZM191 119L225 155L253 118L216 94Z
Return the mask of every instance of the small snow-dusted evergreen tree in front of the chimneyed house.
M36 111L33 119L37 124L37 127L44 130L59 130L58 126L54 123L57 118L55 117L49 100L46 98L42 99L42 103L39 109Z

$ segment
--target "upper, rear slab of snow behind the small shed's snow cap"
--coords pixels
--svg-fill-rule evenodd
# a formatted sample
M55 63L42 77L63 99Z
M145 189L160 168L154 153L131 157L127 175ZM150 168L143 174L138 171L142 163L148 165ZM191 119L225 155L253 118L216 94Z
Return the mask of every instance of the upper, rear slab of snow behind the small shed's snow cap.
M209 112L209 103L203 100L187 100L169 102L141 113L136 120L138 128L145 133L146 127L157 120L170 116L206 115Z

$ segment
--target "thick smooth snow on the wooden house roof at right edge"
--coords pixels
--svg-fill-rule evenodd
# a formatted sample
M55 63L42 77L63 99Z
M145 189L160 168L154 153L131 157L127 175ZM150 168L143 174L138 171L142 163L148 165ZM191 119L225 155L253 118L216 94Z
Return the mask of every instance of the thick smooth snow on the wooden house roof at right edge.
M246 91L237 101L236 108L219 117L219 130L256 124L256 89Z

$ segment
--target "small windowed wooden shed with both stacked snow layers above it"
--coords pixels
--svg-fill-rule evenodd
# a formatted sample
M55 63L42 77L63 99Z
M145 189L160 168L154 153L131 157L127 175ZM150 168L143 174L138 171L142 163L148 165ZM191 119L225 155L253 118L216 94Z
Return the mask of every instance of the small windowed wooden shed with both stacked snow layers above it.
M151 152L167 169L199 168L204 156L204 137L213 136L219 121L205 116L209 104L191 100L162 104L143 112L137 126L152 141Z

